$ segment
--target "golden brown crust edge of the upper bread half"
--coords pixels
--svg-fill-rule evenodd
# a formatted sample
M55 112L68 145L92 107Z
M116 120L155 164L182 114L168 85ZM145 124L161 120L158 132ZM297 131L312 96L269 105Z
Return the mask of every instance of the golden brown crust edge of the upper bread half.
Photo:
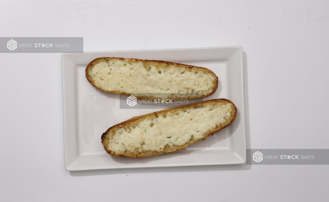
M102 60L104 60L104 59L118 59L118 60L122 60L122 61L128 59L128 60L132 60L132 61L141 61L141 62L143 62L143 63L146 63L146 62L165 63L165 64L172 63L172 62L166 62L166 61L161 61L161 60L139 60L139 59L134 59L134 58L102 57L102 58L96 58L95 60L91 61L91 62L87 65L86 70L85 70L85 72L86 72L86 78L87 78L88 82L89 82L92 86L94 86L95 88L97 88L97 89L99 89L99 90L102 90L102 91L104 91L104 92L115 93L115 94L121 94L121 95L126 95L126 96L130 96L131 94L126 93L126 92L120 92L120 91L107 91L107 90L104 90L104 89L98 88L98 87L95 85L94 81L91 79L90 75L88 74L88 72L94 67L95 64L99 63L100 61L102 61ZM215 78L216 78L216 80L214 81L214 82L215 82L215 86L214 86L213 90L212 90L210 93L204 95L203 97L195 97L195 98L193 98L193 97L186 97L186 99L191 99L191 100L192 100L192 99L200 99L200 98L208 97L208 96L214 94L214 92L216 91L216 89L217 89L217 87L218 87L218 77L217 77L216 74L215 74L213 71L211 71L210 69L207 69L207 68L205 68L205 67L199 67L199 66L193 66L193 65L181 64L181 63L172 63L172 64L175 64L175 65L183 65L183 66L186 67L186 68L193 68L193 67L195 67L195 68L199 68L199 69L202 69L203 71L206 71L206 72L208 72L208 73L214 75ZM145 100L147 100L147 99L160 99L160 98L158 98L158 97L148 97L148 96L137 96L137 98L138 98L138 99L145 99ZM168 99L171 99L171 98L168 98ZM182 99L183 99L183 98L182 98Z

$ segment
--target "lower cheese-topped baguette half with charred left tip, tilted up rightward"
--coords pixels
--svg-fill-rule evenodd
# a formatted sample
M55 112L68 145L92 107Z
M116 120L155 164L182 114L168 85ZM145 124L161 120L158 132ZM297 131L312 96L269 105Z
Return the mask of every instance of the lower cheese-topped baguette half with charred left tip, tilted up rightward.
M237 108L227 99L191 103L136 116L102 135L105 151L118 157L148 157L185 149L234 121Z

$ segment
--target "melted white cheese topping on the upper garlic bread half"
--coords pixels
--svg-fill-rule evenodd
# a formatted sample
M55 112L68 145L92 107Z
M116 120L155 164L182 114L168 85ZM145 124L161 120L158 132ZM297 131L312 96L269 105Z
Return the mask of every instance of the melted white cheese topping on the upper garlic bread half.
M214 75L188 71L169 65L157 68L142 62L110 60L94 65L90 70L95 86L107 91L126 93L202 93L212 91Z

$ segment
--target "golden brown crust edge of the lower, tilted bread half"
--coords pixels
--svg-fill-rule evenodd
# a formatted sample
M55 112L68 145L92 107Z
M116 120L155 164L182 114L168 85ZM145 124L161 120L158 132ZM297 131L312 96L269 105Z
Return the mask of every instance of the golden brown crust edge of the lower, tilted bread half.
M123 121L121 123L118 123L112 127L110 127L105 133L102 134L102 144L104 146L104 149L105 151L112 155L112 156L117 156L117 157L128 157L128 158L143 158L143 157L149 157L149 156L155 156L155 155L159 155L159 154L165 154L165 153L169 153L169 152L173 152L173 151L177 151L177 150L181 150L181 149L185 149L187 146L195 143L195 142L198 142L200 141L201 139L193 139L191 138L189 142L183 144L183 145L173 145L172 147L170 147L169 145L166 145L163 149L163 151L148 151L148 152L145 152L143 154L133 154L133 152L131 152L131 154L116 154L114 151L111 151L111 150L108 150L107 149L107 144L108 144L108 140L106 139L106 136L108 134L108 132L110 132L112 129L114 129L115 127L119 126L119 125L128 125L134 121L137 121L137 120L141 120L142 118L144 117L147 117L147 116L150 116L150 115L161 115L162 113L166 113L166 112L170 112L172 110L175 110L175 109L180 109L180 108L186 108L186 107L190 107L190 106L196 106L198 104L204 104L204 103L208 103L208 102L226 102L226 103L231 103L233 104L233 109L232 109L232 113L233 113L233 116L230 117L229 119L229 122L225 125L222 125L222 126L218 126L218 128L216 128L215 130L213 131L210 131L208 133L206 133L204 135L204 138L202 138L202 140L204 140L206 137L210 136L210 135L213 135L214 133L222 130L223 128L226 128L227 126L229 126L236 118L236 115L237 115L237 108L236 106L234 105L234 103L232 103L230 100L227 100L227 99L213 99L213 100L206 100L206 101L202 101L202 102L197 102L197 103L191 103L191 104L187 104L187 105L180 105L180 106L176 106L176 107L172 107L172 108L168 108L168 109L164 109L164 110L161 110L161 111L158 111L158 112L154 112L154 113L150 113L150 114L144 114L144 115L141 115L141 116L136 116L136 117L133 117L131 119L128 119L126 121Z

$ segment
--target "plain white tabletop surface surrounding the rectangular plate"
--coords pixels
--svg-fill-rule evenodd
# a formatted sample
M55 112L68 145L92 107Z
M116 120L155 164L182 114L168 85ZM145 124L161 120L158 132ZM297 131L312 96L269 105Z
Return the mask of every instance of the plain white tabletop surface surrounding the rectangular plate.
M85 51L242 46L247 148L328 148L326 0L8 0L0 19L0 36L84 37ZM68 172L61 54L0 61L1 201L328 201L327 165Z

